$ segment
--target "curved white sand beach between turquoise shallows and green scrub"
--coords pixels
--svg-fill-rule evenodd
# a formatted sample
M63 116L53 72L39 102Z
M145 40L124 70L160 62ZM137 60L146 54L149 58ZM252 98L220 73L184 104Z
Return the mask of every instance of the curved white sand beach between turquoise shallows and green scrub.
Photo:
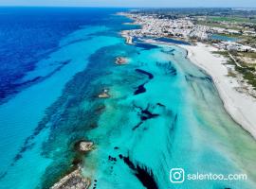
M256 99L235 90L239 84L235 78L227 77L228 68L224 57L213 55L217 49L203 43L194 46L179 45L188 51L188 58L212 77L231 117L256 139Z

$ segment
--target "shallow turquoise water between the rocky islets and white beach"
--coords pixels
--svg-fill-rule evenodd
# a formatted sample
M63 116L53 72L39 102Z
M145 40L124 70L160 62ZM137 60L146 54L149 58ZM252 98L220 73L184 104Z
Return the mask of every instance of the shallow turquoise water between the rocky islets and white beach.
M251 169L255 142L225 112L211 78L185 59L186 52L178 47L138 48L137 52L129 54L129 65L116 67L103 78L105 85L111 85L112 98L104 102L98 128L86 133L97 146L85 158L84 175L98 180L99 188L143 188L119 158L122 155L152 170L159 188L250 188L249 181L255 177ZM132 95L147 80L137 74L137 68L154 78L145 84L145 93ZM140 108L159 116L135 129L141 120ZM189 173L246 172L251 180L172 184L169 171L173 167Z

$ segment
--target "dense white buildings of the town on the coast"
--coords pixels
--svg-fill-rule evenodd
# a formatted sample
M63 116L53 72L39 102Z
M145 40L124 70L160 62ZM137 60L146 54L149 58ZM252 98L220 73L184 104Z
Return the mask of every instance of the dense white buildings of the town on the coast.
M241 31L235 29L210 27L195 25L192 18L184 17L177 19L159 18L156 14L127 14L125 16L135 20L135 24L141 26L139 29L126 30L125 34L130 38L133 37L174 37L185 40L209 41L213 33L220 34L241 34ZM248 31L247 35L255 35ZM244 33L243 33L244 35ZM226 42L219 40L213 45L222 50L234 50L242 52L256 52L256 48L250 47L237 42Z

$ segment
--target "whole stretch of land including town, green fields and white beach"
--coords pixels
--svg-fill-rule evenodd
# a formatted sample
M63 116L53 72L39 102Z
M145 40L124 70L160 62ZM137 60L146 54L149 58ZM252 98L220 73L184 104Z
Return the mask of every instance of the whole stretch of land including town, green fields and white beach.
M231 117L256 138L254 9L143 9L119 15L137 26L121 32L126 43L140 40L186 49L188 59L212 77Z

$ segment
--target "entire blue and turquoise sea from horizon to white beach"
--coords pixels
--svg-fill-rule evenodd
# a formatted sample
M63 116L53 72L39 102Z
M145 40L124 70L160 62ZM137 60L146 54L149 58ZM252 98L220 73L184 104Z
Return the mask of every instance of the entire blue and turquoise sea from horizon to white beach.
M0 188L49 188L80 158L91 189L255 187L255 140L210 76L174 44L126 44L125 10L2 9ZM172 183L172 168L247 180Z

